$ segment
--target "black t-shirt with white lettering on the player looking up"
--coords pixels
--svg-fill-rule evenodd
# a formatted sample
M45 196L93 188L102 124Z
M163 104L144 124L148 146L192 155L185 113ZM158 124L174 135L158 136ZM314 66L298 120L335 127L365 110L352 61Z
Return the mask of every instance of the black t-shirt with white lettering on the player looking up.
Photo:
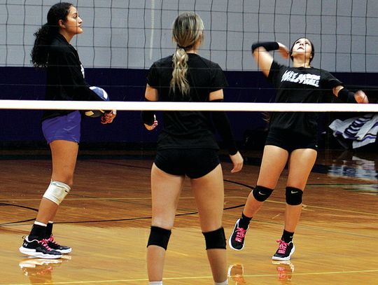
M268 81L276 89L277 103L318 103L332 95L332 88L343 85L328 71L314 67L286 67L277 62L270 67ZM318 114L313 112L274 112L269 130L288 130L316 138Z

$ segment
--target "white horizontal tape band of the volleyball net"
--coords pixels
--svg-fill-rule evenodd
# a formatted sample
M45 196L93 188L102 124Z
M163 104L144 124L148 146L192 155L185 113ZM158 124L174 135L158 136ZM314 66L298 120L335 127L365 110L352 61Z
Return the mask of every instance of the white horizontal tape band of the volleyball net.
M378 104L0 100L0 109L378 112Z

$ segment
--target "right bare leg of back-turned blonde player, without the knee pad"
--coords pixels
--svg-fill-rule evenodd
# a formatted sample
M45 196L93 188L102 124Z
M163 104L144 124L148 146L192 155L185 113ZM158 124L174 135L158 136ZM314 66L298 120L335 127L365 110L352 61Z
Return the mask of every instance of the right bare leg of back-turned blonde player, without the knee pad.
M211 232L222 227L224 187L221 165L199 179L191 179L192 190L200 214L202 232ZM207 249L207 258L215 282L227 279L225 249Z

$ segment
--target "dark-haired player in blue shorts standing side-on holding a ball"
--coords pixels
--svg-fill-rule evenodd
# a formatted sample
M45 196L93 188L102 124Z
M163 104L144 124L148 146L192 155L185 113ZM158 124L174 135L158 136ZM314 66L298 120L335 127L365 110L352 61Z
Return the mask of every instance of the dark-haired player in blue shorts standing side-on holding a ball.
M47 73L46 100L101 100L90 90L84 79L84 69L78 53L70 41L83 32L83 20L69 3L58 3L48 11L48 22L36 32L31 62ZM102 124L111 123L113 110L101 118ZM45 110L42 118L43 135L50 145L52 175L50 185L39 205L36 221L25 237L20 251L38 258L60 258L71 252L52 236L52 224L59 204L73 184L73 171L80 141L80 111Z

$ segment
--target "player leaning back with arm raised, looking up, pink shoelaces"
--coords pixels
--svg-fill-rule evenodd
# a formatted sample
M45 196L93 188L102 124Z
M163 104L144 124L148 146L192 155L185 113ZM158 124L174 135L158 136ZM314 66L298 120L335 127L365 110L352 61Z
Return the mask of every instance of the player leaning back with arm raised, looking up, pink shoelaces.
M342 82L328 71L311 67L314 45L301 38L293 43L290 52L276 42L254 43L253 57L269 83L276 89L276 102L316 103L328 93L343 102L368 103L365 93L349 92ZM293 60L293 67L286 67L273 60L269 50L279 50L283 58ZM232 249L244 247L246 231L251 218L258 212L276 187L283 168L288 163L286 182L286 213L283 234L273 260L290 260L295 251L293 235L302 211L302 194L316 160L316 113L277 112L269 122L269 132L262 154L257 186L248 195L246 205L235 223L229 239Z

